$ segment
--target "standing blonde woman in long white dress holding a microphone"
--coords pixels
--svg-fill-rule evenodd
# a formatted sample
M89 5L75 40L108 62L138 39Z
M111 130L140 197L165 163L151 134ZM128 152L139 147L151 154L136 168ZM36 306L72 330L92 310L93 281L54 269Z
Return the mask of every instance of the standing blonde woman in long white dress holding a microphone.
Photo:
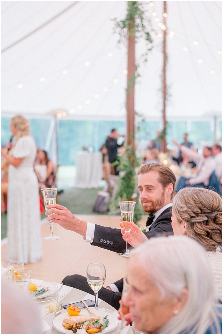
M35 263L42 257L38 180L34 172L36 145L23 116L10 120L14 142L9 153L6 260Z

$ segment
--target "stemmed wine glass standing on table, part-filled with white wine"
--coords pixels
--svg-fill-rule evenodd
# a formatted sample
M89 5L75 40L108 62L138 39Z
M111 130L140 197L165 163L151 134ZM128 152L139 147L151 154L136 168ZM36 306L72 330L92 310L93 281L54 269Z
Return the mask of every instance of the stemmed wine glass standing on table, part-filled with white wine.
M106 270L104 264L88 264L86 275L88 284L95 293L95 309L98 310L98 291L100 290L100 288L102 288L106 277Z

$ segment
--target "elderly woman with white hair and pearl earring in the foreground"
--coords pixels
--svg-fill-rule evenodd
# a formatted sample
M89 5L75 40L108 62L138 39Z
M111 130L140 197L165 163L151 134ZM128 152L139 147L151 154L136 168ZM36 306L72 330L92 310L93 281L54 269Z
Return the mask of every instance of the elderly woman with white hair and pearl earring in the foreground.
M131 252L124 315L144 334L222 334L222 305L203 247L184 236L150 239Z

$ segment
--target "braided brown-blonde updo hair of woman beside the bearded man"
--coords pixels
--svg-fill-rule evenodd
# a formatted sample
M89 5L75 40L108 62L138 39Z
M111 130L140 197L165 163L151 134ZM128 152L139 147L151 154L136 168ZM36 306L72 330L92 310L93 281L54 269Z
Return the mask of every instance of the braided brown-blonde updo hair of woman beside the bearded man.
M184 235L199 242L207 251L222 246L222 198L202 187L181 189L173 199L179 223L186 221Z

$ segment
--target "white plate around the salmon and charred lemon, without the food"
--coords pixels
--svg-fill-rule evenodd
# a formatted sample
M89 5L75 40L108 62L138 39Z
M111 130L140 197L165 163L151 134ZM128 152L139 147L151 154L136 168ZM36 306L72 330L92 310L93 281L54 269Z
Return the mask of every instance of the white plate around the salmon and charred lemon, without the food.
M102 318L104 318L106 315L108 316L108 327L106 327L103 331L101 332L98 332L96 334L111 334L111 331L113 329L115 329L118 324L119 324L119 319L117 318L117 316L115 314L117 314L115 311L113 313L111 312L107 312L107 311L101 311L101 310L95 310L94 308L91 308L91 311L96 315L96 316L101 316ZM86 310L81 310L81 313L79 315L86 315L87 317L89 317L90 315L87 314L87 311ZM64 334L73 334L72 330L68 330L68 329L65 329L63 326L62 326L62 323L63 323L63 320L70 316L67 312L65 313L62 313L60 315L58 315L57 317L55 317L55 319L53 319L53 327L57 330L59 330L61 333L64 333ZM83 330L81 331L77 331L76 334L83 334ZM85 332L84 334L88 334L87 332Z

